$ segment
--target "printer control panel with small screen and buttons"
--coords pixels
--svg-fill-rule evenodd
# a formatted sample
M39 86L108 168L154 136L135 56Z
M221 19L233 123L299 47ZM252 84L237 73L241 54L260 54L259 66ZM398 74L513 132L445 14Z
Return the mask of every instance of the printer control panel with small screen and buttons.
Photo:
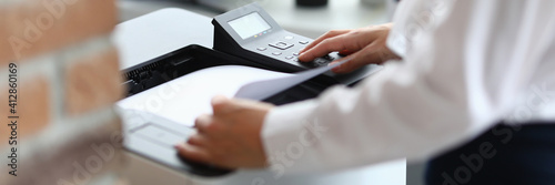
M270 68L295 72L327 65L341 58L331 53L311 62L300 62L299 51L313 40L282 29L258 3L220 14L214 24L214 49L260 61Z

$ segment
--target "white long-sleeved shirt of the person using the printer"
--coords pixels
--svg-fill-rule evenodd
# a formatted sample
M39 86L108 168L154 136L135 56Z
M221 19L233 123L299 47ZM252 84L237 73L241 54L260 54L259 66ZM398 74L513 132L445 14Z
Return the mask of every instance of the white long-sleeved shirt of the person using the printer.
M287 174L423 160L500 121L553 43L555 1L445 2L407 39L404 61L354 89L272 110L262 131L271 167ZM402 21L396 32L420 22Z

